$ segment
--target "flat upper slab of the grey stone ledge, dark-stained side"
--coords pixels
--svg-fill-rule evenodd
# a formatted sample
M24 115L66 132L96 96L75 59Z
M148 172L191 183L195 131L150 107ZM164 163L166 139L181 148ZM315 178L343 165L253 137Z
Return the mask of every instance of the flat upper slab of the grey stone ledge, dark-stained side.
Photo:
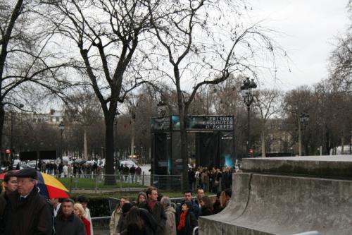
M352 179L352 156L267 157L243 159L244 172Z

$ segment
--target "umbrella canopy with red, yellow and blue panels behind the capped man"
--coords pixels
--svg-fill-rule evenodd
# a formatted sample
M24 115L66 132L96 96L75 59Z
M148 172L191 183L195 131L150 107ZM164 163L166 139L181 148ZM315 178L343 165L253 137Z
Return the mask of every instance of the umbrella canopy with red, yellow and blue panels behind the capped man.
M7 172L0 174L0 179L4 179ZM63 184L49 174L37 171L39 193L46 198L70 198L68 189Z

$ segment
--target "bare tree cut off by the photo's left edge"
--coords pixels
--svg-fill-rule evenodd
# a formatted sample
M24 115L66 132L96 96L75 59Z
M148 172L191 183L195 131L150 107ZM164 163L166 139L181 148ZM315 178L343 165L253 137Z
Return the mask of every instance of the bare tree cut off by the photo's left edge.
M0 1L0 143L6 105L23 107L34 90L59 96L65 90L60 68L66 64L47 49L53 28L44 26L39 8L37 1Z

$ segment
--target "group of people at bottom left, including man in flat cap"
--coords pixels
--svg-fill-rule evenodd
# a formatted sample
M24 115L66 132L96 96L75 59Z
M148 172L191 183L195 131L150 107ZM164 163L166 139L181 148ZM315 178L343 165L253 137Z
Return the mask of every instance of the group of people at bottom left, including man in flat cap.
M1 235L93 235L87 198L51 198L39 194L37 171L8 171L0 195Z

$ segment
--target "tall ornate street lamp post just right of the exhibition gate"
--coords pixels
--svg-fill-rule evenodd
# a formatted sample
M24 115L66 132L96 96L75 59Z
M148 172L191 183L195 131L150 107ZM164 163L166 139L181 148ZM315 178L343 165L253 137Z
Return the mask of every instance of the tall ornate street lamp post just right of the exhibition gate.
M257 88L257 84L254 82L254 79L249 80L246 78L241 85L241 94L244 98L244 103L247 106L247 141L246 141L246 154L249 155L249 147L251 146L250 143L250 131L251 131L251 121L250 121L250 113L251 113L251 104L254 100L254 90Z

